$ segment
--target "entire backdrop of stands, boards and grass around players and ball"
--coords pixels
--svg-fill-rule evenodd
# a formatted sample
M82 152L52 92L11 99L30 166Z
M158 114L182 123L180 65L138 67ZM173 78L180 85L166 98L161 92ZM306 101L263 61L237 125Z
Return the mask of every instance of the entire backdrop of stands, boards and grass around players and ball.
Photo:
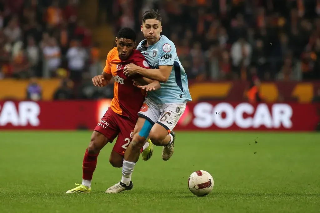
M174 155L139 161L134 188L99 155L81 183L92 129L113 82L92 86L115 34L163 15L193 101ZM319 212L320 0L0 0L0 209L13 212ZM178 131L179 130L179 131ZM303 131L303 132L301 132ZM205 170L211 194L190 193Z

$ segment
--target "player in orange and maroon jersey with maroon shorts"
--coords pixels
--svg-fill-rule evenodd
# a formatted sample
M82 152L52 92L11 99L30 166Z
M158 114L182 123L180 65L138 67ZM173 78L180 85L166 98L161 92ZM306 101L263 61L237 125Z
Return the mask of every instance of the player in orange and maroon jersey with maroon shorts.
M95 127L91 141L85 151L83 159L83 181L76 184L75 188L67 193L89 193L91 191L91 180L97 165L100 150L118 136L111 152L109 161L114 167L122 167L124 152L132 140L133 130L138 119L138 112L145 98L145 91L160 88L158 81L150 80L136 75L134 79L146 85L138 88L133 85L133 78L123 74L127 64L133 63L140 67L149 69L149 65L140 51L134 49L136 45L136 34L130 28L123 28L116 37L117 47L110 50L106 60L106 66L99 76L92 79L94 86L103 87L113 77L114 98L105 115ZM148 160L153 153L151 141L147 141L141 149L142 159Z

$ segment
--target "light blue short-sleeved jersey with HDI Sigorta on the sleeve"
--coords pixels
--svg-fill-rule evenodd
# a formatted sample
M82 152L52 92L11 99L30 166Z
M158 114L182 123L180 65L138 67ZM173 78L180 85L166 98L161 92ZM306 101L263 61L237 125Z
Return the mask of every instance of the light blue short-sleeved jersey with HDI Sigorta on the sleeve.
M144 46L146 39L141 41L138 50L147 59L151 69L159 69L161 65L172 65L172 71L166 83L160 83L161 88L147 93L147 99L156 104L184 103L191 101L186 71L177 56L176 47L164 35L160 40L148 48Z

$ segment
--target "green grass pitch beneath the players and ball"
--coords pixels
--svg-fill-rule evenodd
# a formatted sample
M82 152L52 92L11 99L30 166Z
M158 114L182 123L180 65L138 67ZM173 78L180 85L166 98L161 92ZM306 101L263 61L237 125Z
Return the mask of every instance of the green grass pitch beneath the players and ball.
M172 158L163 161L156 147L136 165L133 189L121 194L104 194L121 178L108 162L108 144L92 193L66 194L81 183L90 135L0 132L0 212L320 212L319 133L178 132ZM196 170L214 179L205 197L188 190Z

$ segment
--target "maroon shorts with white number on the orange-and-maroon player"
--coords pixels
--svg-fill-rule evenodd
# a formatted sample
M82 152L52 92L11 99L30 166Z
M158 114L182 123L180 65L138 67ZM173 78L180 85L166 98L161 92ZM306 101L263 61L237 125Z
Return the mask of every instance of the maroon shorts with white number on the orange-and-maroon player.
M124 156L124 152L133 138L135 125L136 122L118 115L109 107L94 130L108 138L110 143L118 136L113 150Z

